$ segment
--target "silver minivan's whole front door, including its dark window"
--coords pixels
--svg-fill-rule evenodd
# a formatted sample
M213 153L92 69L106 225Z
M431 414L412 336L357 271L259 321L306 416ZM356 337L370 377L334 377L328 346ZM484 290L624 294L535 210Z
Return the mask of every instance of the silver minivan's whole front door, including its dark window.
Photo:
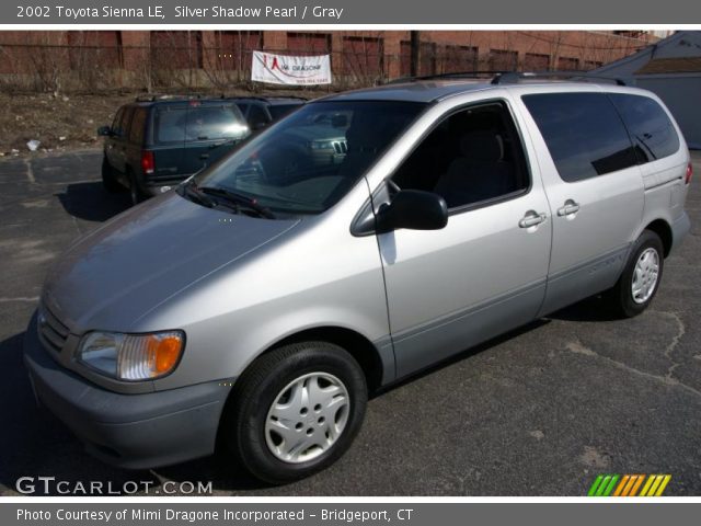
M506 104L446 117L392 182L441 195L450 213L440 230L378 235L398 377L535 319L551 219Z

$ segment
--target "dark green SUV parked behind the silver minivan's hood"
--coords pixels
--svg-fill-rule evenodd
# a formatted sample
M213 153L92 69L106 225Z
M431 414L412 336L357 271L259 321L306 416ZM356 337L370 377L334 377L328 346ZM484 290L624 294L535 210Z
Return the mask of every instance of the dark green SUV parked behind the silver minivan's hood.
M251 129L233 100L149 96L122 106L97 133L105 188L127 187L136 204L219 159Z

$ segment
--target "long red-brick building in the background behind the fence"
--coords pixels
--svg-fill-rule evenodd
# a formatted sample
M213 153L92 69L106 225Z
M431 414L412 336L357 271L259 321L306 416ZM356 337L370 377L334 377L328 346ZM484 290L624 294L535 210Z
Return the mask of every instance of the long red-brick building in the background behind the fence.
M410 31L0 32L0 77L50 87L231 85L250 79L255 49L331 54L338 87L407 76ZM471 70L588 70L656 42L650 32L422 31L420 75Z

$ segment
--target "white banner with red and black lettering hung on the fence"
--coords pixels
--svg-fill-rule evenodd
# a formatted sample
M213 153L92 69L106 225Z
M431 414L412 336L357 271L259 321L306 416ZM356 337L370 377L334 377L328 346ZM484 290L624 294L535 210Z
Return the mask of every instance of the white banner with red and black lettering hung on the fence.
M253 52L251 80L273 84L330 84L331 56L295 57Z

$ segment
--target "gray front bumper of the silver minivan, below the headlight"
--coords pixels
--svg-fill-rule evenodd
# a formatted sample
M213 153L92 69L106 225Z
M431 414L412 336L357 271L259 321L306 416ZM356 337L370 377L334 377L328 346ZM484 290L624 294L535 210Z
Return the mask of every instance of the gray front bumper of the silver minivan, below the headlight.
M24 363L38 401L88 451L113 466L147 469L215 451L230 381L143 395L107 391L58 365L39 342L36 316L24 338Z

